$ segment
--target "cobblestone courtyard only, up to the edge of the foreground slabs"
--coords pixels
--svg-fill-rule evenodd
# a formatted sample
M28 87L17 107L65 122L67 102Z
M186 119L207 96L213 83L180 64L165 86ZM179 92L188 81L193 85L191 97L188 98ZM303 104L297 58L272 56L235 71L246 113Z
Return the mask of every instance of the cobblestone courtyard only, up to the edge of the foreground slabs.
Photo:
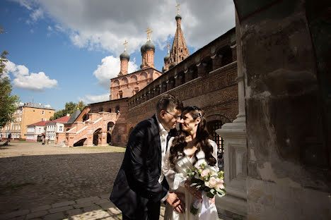
M0 147L0 214L110 194L125 150L40 142L10 145Z

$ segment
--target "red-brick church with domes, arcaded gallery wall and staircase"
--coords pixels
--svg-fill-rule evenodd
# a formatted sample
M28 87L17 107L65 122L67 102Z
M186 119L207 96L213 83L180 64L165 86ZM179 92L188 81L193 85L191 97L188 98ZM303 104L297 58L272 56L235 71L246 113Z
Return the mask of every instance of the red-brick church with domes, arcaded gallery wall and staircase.
M141 46L141 66L128 73L130 56L120 54L120 73L110 80L110 99L88 104L73 123L64 125L56 142L66 146L125 146L129 133L139 121L155 114L158 96L174 94L185 105L204 109L213 139L222 149L222 139L214 130L233 121L238 114L238 85L235 82L236 37L234 28L190 56L180 26L182 16L175 16L177 27L173 45L164 58L162 72L154 66L155 45L148 29Z

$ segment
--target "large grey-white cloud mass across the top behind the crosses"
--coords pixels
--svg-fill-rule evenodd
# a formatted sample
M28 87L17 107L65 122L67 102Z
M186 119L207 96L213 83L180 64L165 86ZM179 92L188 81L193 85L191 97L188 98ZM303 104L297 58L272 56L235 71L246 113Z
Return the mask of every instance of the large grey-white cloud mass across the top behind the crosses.
M31 18L46 15L66 32L73 44L88 49L106 49L118 56L127 39L127 51L139 50L146 42L145 30L153 30L151 39L163 49L175 34L175 5L180 4L182 30L187 45L200 48L235 26L232 0L142 0L142 1L67 1L15 0L28 8ZM171 43L171 42L170 42Z

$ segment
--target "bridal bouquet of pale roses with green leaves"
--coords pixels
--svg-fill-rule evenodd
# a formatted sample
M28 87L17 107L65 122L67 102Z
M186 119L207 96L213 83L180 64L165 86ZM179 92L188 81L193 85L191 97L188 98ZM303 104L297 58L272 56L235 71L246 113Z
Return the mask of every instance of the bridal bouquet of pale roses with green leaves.
M215 195L222 197L226 195L225 183L223 181L223 171L217 173L214 166L201 164L192 171L187 169L188 180L191 186L206 192L207 197L213 198ZM192 204L191 213L196 215L201 205L201 200L197 200Z

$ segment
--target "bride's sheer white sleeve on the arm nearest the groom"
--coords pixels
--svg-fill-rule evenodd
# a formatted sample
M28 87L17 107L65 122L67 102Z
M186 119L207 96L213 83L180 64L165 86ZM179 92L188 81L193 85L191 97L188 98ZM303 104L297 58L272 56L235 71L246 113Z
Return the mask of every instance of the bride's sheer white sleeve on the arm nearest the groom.
M169 140L168 146L171 146L172 142L173 142L173 138ZM177 190L179 186L184 187L187 178L182 173L178 173L175 167L170 166L169 157L170 157L170 147L168 147L167 154L165 156L163 174L168 181L170 189Z

